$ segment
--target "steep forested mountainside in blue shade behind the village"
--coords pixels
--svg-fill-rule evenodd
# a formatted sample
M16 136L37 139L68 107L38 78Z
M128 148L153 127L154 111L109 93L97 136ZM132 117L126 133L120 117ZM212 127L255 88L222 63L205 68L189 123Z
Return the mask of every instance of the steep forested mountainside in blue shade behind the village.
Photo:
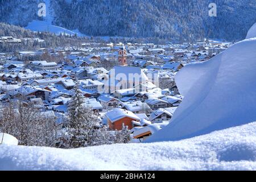
M20 0L19 0L20 1ZM0 1L0 21L27 27L42 20L39 0ZM49 3L50 1L50 3ZM254 0L216 0L217 17L209 17L210 0L47 0L52 24L93 36L242 40L256 22Z

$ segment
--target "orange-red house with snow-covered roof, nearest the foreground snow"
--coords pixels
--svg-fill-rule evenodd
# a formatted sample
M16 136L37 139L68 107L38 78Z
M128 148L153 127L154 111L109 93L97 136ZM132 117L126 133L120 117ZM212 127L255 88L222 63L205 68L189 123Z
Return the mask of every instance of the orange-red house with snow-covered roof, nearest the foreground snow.
M128 126L128 129L133 128L133 121L139 121L139 117L131 111L115 108L106 113L107 122L111 130L122 130L122 126Z

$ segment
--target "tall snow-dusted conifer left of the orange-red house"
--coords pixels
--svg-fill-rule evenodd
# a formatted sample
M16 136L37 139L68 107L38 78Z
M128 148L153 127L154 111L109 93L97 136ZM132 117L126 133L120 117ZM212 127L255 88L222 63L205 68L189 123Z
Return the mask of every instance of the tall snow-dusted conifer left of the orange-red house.
M86 107L85 97L76 81L75 94L68 103L68 119L65 122L62 144L59 147L77 148L94 144L98 118L90 107Z

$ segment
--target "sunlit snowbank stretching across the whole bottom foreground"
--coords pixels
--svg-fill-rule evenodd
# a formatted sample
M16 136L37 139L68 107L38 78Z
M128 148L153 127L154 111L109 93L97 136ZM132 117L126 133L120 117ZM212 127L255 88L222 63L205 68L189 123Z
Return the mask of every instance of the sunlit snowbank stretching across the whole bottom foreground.
M0 145L0 170L255 170L256 122L175 142L63 150Z

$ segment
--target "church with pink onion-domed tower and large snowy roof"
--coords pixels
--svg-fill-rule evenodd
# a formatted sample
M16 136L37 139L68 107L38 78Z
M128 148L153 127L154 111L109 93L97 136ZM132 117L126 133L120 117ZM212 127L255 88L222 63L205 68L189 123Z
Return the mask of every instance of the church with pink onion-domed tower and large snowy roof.
M105 81L105 93L121 89L131 89L138 93L154 88L156 86L148 80L141 68L128 66L126 48L121 46L118 51L118 65L109 71L109 77Z

